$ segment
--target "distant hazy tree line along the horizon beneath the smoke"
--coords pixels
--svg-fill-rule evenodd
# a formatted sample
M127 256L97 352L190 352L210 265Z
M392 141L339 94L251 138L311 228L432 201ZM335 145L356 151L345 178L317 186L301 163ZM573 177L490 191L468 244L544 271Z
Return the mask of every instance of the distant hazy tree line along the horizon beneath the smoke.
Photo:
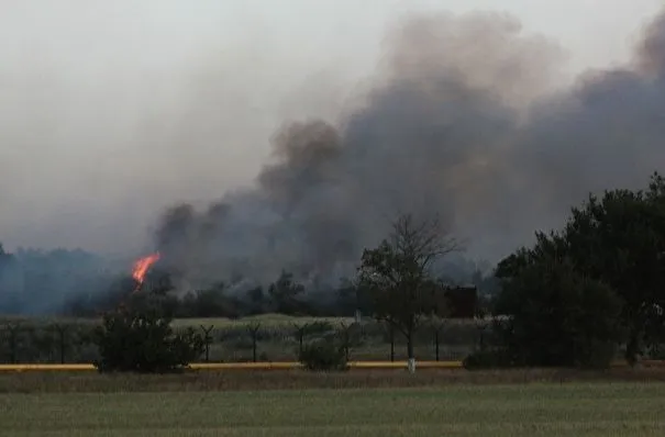
M486 269L457 256L446 260L436 274L451 285L475 284L484 292L496 289ZM351 316L359 307L354 278L341 278L336 287L306 289L289 271L266 285L239 289L235 282L176 293L167 271L156 265L148 271L142 293L160 294L177 318L229 317L281 313L308 316ZM137 283L126 266L109 266L85 250L20 249L10 254L0 244L0 314L97 317L132 296ZM141 293L140 293L141 294Z

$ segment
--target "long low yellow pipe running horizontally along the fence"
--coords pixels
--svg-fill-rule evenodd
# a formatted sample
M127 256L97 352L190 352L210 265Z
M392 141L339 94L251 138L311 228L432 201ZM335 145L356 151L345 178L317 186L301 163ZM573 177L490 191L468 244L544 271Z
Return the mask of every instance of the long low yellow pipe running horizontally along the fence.
M665 367L662 360L644 360L643 367ZM192 370L289 370L302 366L299 362L192 362ZM407 361L350 361L348 367L353 369L379 370L379 369L406 369ZM617 361L613 368L628 367L625 362ZM417 361L418 369L463 369L462 361ZM23 371L96 371L91 363L79 365L0 365L0 372Z

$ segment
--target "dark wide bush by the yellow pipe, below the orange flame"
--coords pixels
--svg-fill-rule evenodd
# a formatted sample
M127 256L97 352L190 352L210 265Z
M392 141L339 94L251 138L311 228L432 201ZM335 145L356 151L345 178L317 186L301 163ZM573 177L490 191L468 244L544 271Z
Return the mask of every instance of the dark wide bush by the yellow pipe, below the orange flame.
M121 309L104 314L95 332L101 372L173 372L197 359L204 340L192 328L174 334L171 320L154 310Z

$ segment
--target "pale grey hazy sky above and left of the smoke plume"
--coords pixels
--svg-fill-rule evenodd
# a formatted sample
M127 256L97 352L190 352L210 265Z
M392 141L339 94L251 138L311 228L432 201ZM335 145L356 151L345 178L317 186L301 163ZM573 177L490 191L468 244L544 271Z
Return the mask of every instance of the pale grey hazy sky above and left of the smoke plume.
M164 206L251 182L281 122L334 117L409 10L510 12L578 72L627 61L660 7L0 0L0 242L144 249Z

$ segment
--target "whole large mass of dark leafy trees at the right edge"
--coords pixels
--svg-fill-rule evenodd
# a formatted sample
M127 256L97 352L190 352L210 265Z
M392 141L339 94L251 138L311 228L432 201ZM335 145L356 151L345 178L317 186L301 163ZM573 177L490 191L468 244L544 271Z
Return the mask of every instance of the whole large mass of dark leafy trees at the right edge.
M522 317L521 327L512 330L514 343L529 341L523 337L529 335L516 329L533 329L531 337L545 330L551 336L564 333L568 338L576 337L575 346L559 345L558 351L548 348L548 358L531 356L531 360L570 362L569 358L576 357L594 361L569 349L594 347L602 355L609 349L608 341L618 343L610 326L614 323L625 332L625 357L634 362L646 348L653 349L663 341L665 181L654 173L647 190L589 195L581 208L573 209L563 231L539 233L531 249L522 248L502 260L496 271L502 281L502 304L497 311ZM598 327L592 328L590 321ZM565 328L564 322L575 327ZM546 323L553 324L551 329L545 329ZM594 332L591 337L583 338L590 335L589 330ZM534 341L528 347L535 348ZM555 352L568 358L555 359Z

